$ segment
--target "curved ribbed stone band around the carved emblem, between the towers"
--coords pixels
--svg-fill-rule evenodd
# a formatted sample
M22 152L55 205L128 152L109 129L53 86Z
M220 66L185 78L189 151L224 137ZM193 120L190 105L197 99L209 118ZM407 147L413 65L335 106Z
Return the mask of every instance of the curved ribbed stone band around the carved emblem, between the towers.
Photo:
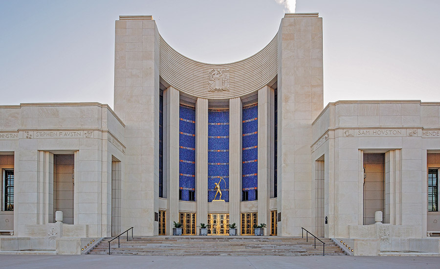
M209 48L207 48L209 49ZM174 88L192 96L229 99L245 96L267 85L278 71L278 36L256 54L229 64L207 64L178 53L159 38L159 73ZM215 69L229 71L229 89L208 90L209 73Z

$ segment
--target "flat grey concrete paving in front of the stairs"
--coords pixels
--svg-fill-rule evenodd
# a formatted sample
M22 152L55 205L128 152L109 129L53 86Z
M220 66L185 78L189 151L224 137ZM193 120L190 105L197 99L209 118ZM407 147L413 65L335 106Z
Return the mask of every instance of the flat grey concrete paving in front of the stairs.
M32 269L430 269L440 268L440 257L355 257L355 256L93 256L93 255L0 255L1 268Z

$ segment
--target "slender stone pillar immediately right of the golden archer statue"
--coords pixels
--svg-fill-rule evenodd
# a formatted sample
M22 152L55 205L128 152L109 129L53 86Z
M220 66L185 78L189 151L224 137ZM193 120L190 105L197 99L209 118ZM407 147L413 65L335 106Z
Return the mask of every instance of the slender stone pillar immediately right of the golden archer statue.
M242 193L242 100L229 99L229 223L241 234L240 195Z

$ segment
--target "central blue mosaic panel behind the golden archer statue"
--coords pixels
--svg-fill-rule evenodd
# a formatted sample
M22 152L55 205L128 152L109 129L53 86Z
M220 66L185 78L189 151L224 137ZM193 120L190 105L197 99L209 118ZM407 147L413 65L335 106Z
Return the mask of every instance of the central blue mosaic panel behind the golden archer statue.
M216 195L220 179L221 199L229 202L229 110L208 110L208 202ZM217 195L219 199L219 195Z

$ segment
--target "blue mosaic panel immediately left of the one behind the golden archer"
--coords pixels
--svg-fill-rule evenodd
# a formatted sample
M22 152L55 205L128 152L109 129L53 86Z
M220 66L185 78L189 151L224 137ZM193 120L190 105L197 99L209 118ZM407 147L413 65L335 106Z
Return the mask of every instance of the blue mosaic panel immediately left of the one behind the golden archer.
M196 190L196 109L180 104L179 118L179 189L189 201Z

